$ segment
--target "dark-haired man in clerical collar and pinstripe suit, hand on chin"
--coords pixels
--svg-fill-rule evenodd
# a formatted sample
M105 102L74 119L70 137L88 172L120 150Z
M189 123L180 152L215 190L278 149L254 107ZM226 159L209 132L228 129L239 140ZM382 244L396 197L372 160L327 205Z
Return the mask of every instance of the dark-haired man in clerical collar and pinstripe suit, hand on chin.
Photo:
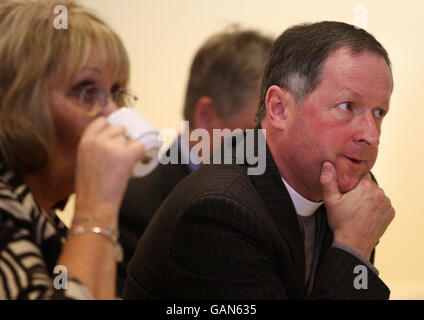
M394 210L369 172L391 92L387 52L365 30L285 31L257 112L264 174L246 161L186 177L138 243L123 297L387 299L370 260Z

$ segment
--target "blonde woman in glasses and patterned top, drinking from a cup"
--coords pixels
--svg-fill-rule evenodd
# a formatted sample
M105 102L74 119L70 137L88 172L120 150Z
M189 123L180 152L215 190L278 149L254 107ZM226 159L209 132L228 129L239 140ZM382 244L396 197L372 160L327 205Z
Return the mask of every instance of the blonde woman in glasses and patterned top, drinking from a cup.
M55 29L55 7L68 29ZM0 4L0 298L115 298L118 212L143 145L120 38L71 0ZM76 193L70 230L55 209Z

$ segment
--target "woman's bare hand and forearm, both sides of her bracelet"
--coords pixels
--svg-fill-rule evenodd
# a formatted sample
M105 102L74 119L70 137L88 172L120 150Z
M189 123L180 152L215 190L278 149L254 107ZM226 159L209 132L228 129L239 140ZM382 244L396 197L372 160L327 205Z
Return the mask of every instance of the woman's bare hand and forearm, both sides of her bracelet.
M90 123L77 150L73 225L117 229L128 179L143 153L144 146L127 138L124 127L109 125L105 117ZM76 222L78 218L80 222ZM58 264L65 265L94 298L115 298L116 257L112 239L92 232L73 235Z

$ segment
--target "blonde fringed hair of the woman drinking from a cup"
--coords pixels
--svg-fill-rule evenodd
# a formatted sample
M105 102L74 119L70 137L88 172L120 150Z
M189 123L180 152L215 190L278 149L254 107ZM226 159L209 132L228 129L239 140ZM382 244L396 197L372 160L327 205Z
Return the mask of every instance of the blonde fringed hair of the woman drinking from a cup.
M67 9L68 29L54 27L58 5ZM50 160L56 133L49 87L59 80L68 84L93 52L126 87L127 52L95 14L73 0L2 0L0 154L9 168L35 172Z

